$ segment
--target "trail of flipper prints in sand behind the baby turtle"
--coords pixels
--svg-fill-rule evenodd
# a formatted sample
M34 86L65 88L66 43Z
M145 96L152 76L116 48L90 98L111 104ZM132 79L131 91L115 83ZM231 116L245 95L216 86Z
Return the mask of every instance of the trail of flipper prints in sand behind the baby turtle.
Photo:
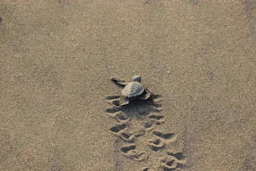
M122 145L117 148L126 158L145 162L141 164L144 167L138 168L139 171L180 170L185 166L185 156L182 152L166 152L167 146L177 139L177 135L157 131L157 126L163 124L165 119L160 115L163 109L161 99L157 95L154 97L154 101L133 100L127 106L118 107L122 97L107 96L105 100L111 107L105 111L118 122L109 130L121 142ZM159 158L156 166L147 166L151 156Z

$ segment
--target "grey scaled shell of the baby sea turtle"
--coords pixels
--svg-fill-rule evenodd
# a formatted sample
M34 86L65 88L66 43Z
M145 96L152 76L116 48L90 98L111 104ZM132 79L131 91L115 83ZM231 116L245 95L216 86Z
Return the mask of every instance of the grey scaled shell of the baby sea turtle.
M126 97L139 96L143 93L144 87L137 81L129 82L122 90L122 94Z

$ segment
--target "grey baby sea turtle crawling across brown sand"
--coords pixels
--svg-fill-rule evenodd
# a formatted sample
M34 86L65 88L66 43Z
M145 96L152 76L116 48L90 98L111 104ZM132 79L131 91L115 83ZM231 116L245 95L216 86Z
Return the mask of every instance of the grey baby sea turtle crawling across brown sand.
M122 90L122 94L123 96L125 96L125 100L119 106L128 104L129 100L134 100L137 98L148 99L151 97L153 99L152 94L149 93L147 88L141 85L141 77L138 75L134 76L132 82L129 83L115 78L112 78L111 80L115 80L118 84L122 84L125 86Z

